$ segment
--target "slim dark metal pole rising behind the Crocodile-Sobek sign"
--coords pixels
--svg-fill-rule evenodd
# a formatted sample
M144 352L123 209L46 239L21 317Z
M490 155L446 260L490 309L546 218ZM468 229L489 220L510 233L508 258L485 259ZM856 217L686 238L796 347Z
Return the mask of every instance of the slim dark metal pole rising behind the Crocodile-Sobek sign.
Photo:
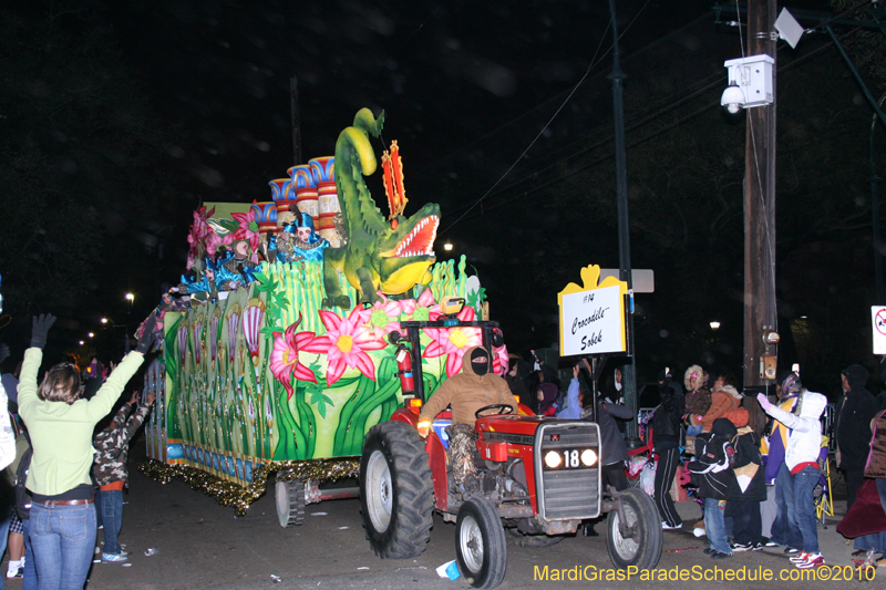
M627 149L625 147L625 101L622 100L622 80L625 74L621 72L620 56L618 49L618 22L616 21L616 3L609 0L609 13L612 17L612 112L615 122L616 139L616 200L618 204L618 275L619 280L628 283L628 292L631 292L630 272L630 225L628 224L628 164ZM628 362L621 366L621 386L625 390L625 405L633 412L633 420L627 424L628 447L633 448L640 445L639 432L637 428L637 375L633 366L633 313L628 311Z

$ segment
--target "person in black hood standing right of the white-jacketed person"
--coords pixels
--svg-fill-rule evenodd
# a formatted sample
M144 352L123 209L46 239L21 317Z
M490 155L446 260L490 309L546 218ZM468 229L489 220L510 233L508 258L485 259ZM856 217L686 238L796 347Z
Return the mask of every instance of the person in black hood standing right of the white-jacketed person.
M855 501L855 493L865 480L865 460L870 443L870 421L877 413L877 401L865 389L867 369L853 364L841 373L843 396L837 401L834 435L837 443L837 467L846 473L846 511Z

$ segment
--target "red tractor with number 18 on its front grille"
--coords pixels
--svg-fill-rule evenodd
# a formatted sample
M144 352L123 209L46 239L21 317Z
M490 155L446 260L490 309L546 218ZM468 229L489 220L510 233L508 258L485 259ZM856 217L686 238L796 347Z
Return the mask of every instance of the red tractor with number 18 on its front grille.
M446 455L450 412L436 417L426 439L419 436L421 360L411 359L414 369L402 362L404 351L414 356L412 351L421 350L422 329L455 325L480 328L486 350L501 338L496 322L453 319L402 322L405 337L392 333L401 354L401 380L414 377L414 397L373 426L363 444L360 503L375 555L405 559L421 553L436 510L455 522L455 553L465 580L475 588L495 588L505 576L508 536L517 545L555 545L575 534L583 519L608 513L612 563L655 568L662 544L658 509L640 489L600 489L600 433L593 422L509 415L506 405L484 407L477 412L474 458L480 489L455 486ZM406 375L410 370L413 375ZM521 414L527 411L522 406ZM482 415L488 412L493 415Z

